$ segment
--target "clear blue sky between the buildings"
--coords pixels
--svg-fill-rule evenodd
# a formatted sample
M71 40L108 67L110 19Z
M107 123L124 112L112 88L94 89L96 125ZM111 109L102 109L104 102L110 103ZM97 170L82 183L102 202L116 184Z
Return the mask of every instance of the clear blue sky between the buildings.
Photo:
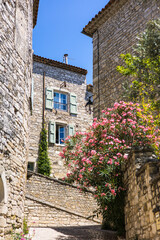
M92 38L83 27L108 0L40 0L37 25L33 31L34 53L56 61L69 55L69 64L88 70L92 83Z

